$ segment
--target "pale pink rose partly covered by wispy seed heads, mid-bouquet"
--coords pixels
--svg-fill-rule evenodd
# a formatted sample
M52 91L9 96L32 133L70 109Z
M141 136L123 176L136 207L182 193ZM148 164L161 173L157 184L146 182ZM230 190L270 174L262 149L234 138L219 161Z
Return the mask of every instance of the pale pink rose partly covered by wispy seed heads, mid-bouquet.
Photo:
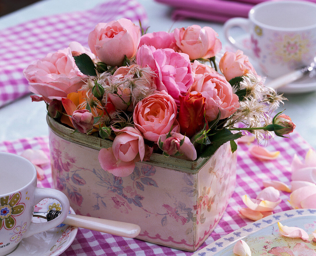
M135 77L136 74L140 74L141 77ZM107 96L116 109L133 111L137 99L156 88L153 74L149 67L143 69L139 65L119 67L111 78L112 84L118 84L115 88L119 95L110 91Z

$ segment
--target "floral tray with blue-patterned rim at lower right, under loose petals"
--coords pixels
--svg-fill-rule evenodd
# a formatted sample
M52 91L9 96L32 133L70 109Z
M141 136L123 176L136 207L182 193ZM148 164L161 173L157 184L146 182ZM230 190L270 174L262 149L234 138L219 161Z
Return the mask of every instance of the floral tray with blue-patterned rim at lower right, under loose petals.
M307 241L289 238L279 233L277 222L299 227L309 234ZM236 256L235 243L242 239L250 247L252 256L316 255L312 232L316 229L316 209L294 209L275 213L257 220L209 244L191 256Z

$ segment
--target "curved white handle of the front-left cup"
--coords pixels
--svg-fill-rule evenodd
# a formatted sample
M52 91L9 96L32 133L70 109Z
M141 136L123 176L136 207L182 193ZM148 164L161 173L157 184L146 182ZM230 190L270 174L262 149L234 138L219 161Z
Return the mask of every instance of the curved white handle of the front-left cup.
M45 198L54 198L58 200L62 205L62 213L56 218L48 222L44 223L30 223L30 226L28 228L27 233L23 237L32 236L37 233L44 232L46 230L50 230L59 224L61 224L64 219L66 219L68 213L69 213L69 200L67 196L56 189L51 188L35 188L34 191L34 201L32 202L32 205L35 206L38 204L41 200Z

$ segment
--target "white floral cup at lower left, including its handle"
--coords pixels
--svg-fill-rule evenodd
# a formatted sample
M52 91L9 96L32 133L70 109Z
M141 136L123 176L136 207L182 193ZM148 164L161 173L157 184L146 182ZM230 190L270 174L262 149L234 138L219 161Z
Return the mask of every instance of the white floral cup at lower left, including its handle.
M50 230L67 217L69 201L65 194L36 185L37 173L31 162L0 152L0 256L11 253L21 239ZM63 211L49 222L33 223L33 208L45 198L58 200Z

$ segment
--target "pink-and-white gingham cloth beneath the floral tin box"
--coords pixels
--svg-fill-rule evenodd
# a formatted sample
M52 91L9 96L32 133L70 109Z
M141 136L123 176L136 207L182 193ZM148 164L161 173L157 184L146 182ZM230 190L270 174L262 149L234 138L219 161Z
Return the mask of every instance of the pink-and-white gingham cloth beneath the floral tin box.
M241 197L243 195L256 197L258 192L263 189L263 180L280 180L289 184L290 164L293 156L297 154L303 160L306 152L311 148L298 133L294 132L289 139L277 137L269 140L267 149L280 151L280 155L272 161L260 161L249 154L248 149L252 145L238 145L237 184L234 194L219 224L200 248L252 223L251 220L241 217L238 213L239 208L245 207ZM48 137L0 142L0 151L21 154L22 151L28 148L41 149L49 156ZM45 179L39 181L38 186L52 186L49 166L45 168ZM281 191L280 198L282 202L275 208L274 213L292 209L289 202L287 202L289 193ZM191 254L190 252L155 245L138 239L123 238L79 228L74 242L61 256L185 256Z

